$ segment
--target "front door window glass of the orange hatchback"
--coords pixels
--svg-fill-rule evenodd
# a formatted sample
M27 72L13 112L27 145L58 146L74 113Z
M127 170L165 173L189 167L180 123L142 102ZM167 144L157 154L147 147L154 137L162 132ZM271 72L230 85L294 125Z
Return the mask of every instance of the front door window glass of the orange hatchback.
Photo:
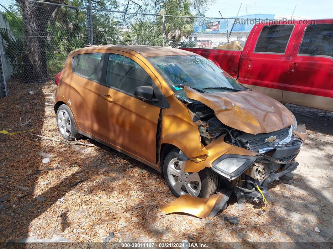
M138 86L152 86L148 73L132 59L116 54L109 55L106 84L131 95Z

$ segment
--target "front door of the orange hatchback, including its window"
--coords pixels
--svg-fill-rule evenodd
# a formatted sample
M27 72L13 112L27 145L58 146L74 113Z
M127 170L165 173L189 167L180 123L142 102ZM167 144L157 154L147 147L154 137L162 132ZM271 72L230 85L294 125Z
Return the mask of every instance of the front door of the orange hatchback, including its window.
M141 66L143 62L131 54L106 54L105 62L106 79L98 91L101 138L156 163L160 108L134 97L136 87L152 86L154 81Z

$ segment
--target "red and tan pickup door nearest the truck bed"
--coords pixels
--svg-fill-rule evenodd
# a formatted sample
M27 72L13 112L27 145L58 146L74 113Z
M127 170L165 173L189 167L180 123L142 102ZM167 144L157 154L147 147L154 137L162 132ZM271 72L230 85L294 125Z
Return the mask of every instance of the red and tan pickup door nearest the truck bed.
M278 101L287 61L295 36L294 25L256 25L246 42L239 71L239 82ZM246 50L246 51L245 51Z

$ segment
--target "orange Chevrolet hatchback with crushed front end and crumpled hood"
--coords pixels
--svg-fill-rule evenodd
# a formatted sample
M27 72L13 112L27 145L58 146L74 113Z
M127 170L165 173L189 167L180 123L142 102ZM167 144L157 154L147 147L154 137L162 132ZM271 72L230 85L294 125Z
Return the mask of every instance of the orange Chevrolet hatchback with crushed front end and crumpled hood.
M56 83L65 139L84 135L153 167L176 197L260 200L259 189L296 169L306 138L281 103L184 50L78 49Z

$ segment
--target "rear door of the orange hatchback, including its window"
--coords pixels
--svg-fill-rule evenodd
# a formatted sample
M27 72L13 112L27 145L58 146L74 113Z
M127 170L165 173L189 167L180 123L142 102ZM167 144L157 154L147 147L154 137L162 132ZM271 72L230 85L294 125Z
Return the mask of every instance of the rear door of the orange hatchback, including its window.
M100 137L97 99L101 58L102 52L74 55L63 78L64 98L79 129L96 137Z

